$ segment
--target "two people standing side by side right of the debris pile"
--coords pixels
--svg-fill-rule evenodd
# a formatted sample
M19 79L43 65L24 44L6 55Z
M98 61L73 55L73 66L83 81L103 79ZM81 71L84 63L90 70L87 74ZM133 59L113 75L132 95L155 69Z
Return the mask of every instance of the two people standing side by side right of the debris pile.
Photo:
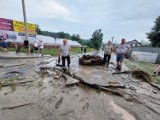
M125 57L125 54L130 50L130 46L128 46L127 44L125 44L126 39L123 38L121 40L121 44L115 46L115 48L113 48L112 42L108 41L105 49L104 49L104 57L103 57L103 64L106 63L106 59L107 59L107 66L109 65L109 61L111 58L111 54L112 52L116 53L116 62L117 62L117 70L121 70L122 68L122 62L123 59Z

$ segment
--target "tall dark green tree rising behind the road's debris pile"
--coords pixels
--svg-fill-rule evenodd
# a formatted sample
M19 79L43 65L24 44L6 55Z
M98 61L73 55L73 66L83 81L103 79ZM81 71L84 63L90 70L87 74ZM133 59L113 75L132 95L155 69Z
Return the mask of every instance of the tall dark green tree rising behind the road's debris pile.
M94 31L91 38L91 46L96 50L99 50L102 45L103 33L101 31L101 29Z

